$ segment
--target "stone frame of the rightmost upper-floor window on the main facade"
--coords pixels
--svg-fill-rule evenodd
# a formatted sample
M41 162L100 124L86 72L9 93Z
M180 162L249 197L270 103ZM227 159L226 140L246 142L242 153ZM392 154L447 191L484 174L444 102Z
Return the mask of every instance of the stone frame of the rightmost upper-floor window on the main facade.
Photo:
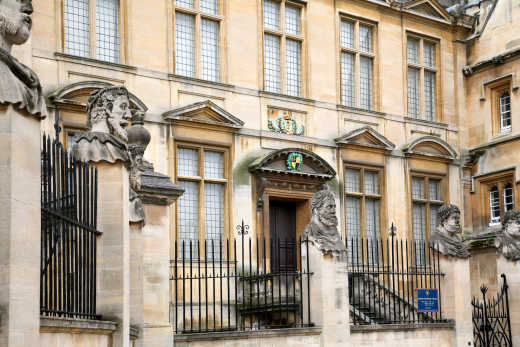
M417 52L417 63L410 62L408 60L408 41L410 39L417 40L418 41L418 52ZM424 46L425 43L429 43L433 45L433 54L434 54L434 61L433 65L427 65L424 61ZM441 41L440 39L428 37L425 35L416 34L413 32L407 31L405 34L405 44L404 44L404 59L405 59L405 87L406 87L406 115L408 118L412 119L419 119L426 122L440 122L442 120L442 108L441 108L441 96L440 96L440 80L441 80L441 69L440 69L440 46ZM418 81L418 102L419 102L419 110L418 114L411 114L410 113L410 103L409 103L409 97L408 97L408 78L409 78L409 70L415 69L419 72L419 81ZM433 106L435 109L435 113L433 115L433 119L426 119L426 93L425 93L425 72L431 72L435 74L435 88L433 89L433 92L435 93L433 98Z

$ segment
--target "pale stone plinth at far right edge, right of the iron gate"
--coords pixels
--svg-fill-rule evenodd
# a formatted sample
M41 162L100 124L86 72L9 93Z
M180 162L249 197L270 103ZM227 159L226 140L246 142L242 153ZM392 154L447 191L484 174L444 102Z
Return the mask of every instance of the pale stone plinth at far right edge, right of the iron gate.
M506 259L497 254L497 287L502 288L501 274L506 275L509 284L509 314L511 316L511 333L513 346L520 346L520 261Z

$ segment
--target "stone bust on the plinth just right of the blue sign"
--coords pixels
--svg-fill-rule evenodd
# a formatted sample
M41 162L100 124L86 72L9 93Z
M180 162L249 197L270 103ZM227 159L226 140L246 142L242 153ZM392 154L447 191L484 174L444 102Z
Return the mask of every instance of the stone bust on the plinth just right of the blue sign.
M460 210L452 204L444 204L437 211L439 224L430 236L430 246L444 255L467 258L469 251L462 242Z

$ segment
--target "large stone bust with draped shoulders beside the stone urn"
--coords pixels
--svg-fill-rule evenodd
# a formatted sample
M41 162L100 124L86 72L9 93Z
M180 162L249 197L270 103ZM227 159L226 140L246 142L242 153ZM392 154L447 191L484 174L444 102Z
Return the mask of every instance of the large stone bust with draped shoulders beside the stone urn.
M126 127L132 116L125 87L108 87L93 92L87 101L88 131L79 136L73 149L83 161L129 162Z

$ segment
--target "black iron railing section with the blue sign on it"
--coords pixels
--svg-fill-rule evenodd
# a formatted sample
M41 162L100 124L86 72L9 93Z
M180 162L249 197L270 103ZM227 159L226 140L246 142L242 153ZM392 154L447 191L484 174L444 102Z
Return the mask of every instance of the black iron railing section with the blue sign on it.
M425 241L351 238L346 244L351 324L445 321L439 255ZM437 298L436 312L432 312L432 300L426 300L426 309L419 307L423 303L419 303L419 292Z

